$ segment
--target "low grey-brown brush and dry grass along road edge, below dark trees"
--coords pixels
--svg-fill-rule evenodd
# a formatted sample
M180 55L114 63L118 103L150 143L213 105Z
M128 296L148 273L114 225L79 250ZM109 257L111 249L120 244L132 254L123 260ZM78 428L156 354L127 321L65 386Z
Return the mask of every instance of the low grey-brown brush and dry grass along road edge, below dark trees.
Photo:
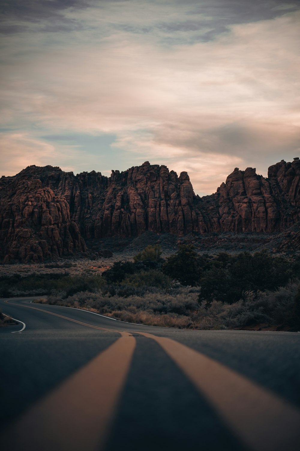
M67 299L58 294L36 302L83 308L121 321L175 328L236 329L264 323L280 330L295 327L294 302L300 281L290 281L276 291L244 294L234 304L214 300L197 302L199 288L178 286L169 290L146 292L126 298L81 292ZM154 291L154 290L153 290ZM62 294L63 295L63 294Z

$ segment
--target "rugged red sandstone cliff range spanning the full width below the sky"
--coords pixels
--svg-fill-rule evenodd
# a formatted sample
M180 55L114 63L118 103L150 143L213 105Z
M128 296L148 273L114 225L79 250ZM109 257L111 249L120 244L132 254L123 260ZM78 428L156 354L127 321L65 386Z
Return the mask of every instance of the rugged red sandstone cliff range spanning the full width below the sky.
M42 262L85 252L85 239L150 230L182 236L211 232L279 232L300 220L300 160L235 168L210 196L196 196L188 174L150 165L100 172L28 166L0 179L0 259Z

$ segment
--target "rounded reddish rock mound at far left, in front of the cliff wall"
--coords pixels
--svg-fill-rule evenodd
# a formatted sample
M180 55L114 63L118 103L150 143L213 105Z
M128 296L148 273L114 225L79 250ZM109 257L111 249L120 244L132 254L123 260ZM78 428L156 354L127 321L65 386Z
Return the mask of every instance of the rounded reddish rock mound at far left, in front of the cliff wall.
M42 262L86 251L69 204L40 179L2 177L0 240L3 262Z

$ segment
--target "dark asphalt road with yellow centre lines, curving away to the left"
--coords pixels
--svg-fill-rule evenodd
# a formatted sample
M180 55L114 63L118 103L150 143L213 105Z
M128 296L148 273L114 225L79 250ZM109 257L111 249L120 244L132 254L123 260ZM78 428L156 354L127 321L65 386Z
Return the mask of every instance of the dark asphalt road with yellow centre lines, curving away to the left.
M3 450L299 449L300 333L140 326L31 300L0 300L23 322L0 328Z

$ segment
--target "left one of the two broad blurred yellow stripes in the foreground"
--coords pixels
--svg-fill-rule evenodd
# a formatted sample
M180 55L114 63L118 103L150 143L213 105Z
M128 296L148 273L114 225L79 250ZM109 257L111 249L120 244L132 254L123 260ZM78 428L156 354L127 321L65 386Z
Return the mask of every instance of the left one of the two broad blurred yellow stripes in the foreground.
M129 333L118 333L121 338L9 428L1 437L3 449L103 449L136 344Z

